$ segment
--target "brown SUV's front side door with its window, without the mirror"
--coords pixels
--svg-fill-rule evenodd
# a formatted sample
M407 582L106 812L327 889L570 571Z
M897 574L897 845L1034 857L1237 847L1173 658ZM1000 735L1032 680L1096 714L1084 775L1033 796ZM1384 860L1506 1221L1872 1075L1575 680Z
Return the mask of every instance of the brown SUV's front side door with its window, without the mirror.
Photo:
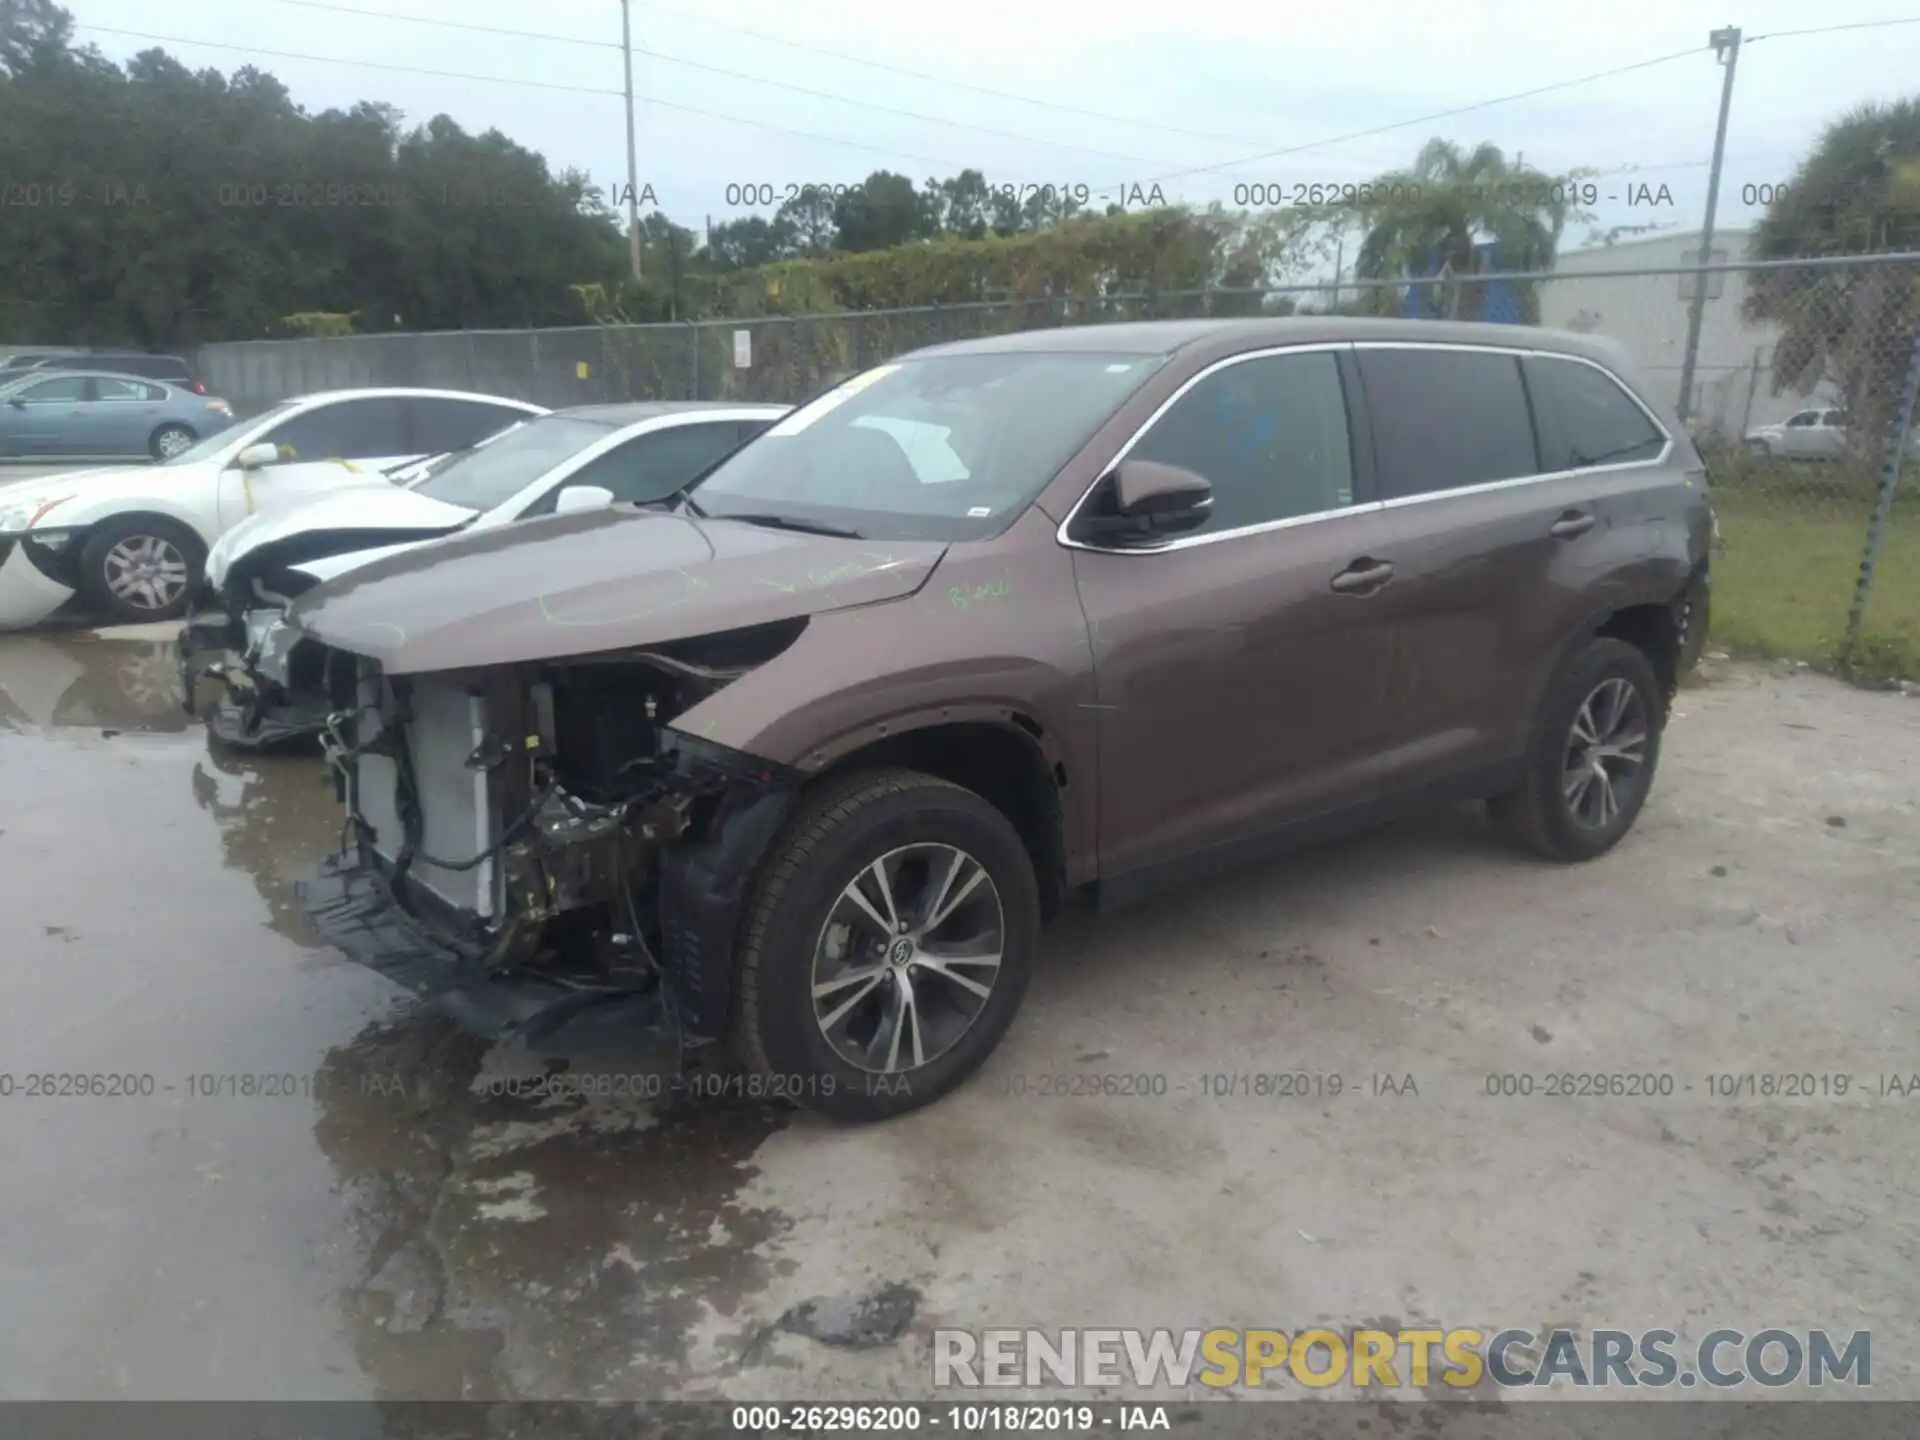
M1386 534L1357 490L1350 363L1346 346L1236 355L1148 420L1121 457L1202 474L1213 507L1200 528L1116 551L1068 524L1096 687L1102 876L1373 797L1392 630L1377 589L1331 584L1377 563Z

